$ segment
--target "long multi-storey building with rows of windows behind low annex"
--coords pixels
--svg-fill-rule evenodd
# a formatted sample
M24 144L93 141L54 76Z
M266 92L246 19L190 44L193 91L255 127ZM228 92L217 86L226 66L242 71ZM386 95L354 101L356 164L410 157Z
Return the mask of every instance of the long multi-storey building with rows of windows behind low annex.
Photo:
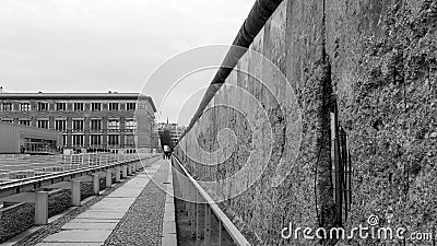
M1 121L61 131L64 153L149 153L155 112L139 93L0 94Z

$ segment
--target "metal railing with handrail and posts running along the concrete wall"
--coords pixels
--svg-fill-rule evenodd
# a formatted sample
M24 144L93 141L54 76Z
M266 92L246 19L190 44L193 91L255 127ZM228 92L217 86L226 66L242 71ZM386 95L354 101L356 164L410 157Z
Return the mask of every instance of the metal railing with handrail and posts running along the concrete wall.
M210 195L199 185L199 183L189 174L189 172L181 165L176 156L172 159L172 165L176 168L175 175L181 190L181 199L185 201L186 210L191 221L191 232L196 235L196 245L201 245L201 235L203 234L203 246L218 245L223 243L223 229L232 237L234 243L238 246L250 246L246 237L238 231L234 223L227 215L220 209L217 203L210 197ZM200 207L204 207L204 222L200 221ZM211 237L211 223L212 214L218 221L218 236L217 242L212 244ZM203 232L201 232L201 224L203 224Z

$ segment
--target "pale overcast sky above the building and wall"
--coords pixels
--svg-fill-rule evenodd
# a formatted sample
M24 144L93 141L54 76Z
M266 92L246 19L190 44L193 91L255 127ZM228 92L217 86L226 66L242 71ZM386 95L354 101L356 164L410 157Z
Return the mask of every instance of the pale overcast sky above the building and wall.
M141 92L172 57L229 45L255 0L0 0L0 85L7 92ZM186 124L214 71L179 86L156 116ZM160 108L175 81L146 86ZM178 101L172 102L173 98ZM180 103L191 102L180 114Z

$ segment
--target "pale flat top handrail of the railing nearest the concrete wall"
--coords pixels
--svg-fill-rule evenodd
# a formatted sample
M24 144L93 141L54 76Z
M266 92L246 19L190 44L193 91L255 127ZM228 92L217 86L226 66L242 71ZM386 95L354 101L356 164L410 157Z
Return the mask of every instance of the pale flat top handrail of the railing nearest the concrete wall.
M176 160L176 163L184 172L184 175L192 183L199 194L202 196L204 201L210 206L213 213L216 218L222 222L223 227L227 231L229 236L234 239L234 242L239 246L250 246L250 243L246 239L246 237L239 232L239 230L235 226L235 224L227 218L227 215L220 209L217 203L210 197L210 195L203 189L202 186L188 173L185 166L180 163L177 156L173 156L173 160Z

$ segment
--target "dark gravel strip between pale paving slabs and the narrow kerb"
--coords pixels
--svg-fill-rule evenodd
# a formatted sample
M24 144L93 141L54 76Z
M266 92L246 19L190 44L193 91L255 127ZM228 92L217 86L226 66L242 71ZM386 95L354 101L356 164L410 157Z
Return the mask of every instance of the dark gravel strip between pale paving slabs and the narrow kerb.
M162 165L105 245L161 245L168 165Z

